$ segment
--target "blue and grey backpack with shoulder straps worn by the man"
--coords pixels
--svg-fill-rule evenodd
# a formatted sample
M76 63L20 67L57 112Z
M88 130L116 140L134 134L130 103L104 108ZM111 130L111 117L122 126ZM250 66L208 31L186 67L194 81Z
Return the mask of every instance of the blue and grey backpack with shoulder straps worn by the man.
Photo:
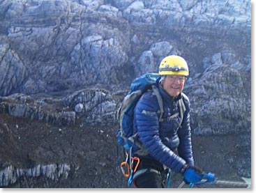
M123 148L127 151L131 151L133 148L133 153L138 155L147 155L148 153L140 141L137 140L138 133L133 134L134 108L143 93L148 91L150 88L153 89L153 92L156 94L156 98L158 100L158 105L160 108L158 111L160 114L159 122L163 121L163 100L158 88L156 87L156 80L158 77L160 76L157 73L147 72L146 74L133 80L132 84L130 85L130 91L126 97L123 98L117 113L117 120L119 121L119 129L116 132L117 144L123 146ZM186 111L186 107L183 100L179 100L179 114L181 116L181 123L183 120L184 111Z

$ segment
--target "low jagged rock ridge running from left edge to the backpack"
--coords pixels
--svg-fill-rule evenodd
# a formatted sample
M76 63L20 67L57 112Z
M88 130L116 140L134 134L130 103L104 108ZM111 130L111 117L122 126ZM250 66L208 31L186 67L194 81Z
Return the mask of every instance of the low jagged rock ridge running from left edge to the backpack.
M112 125L116 122L117 104L110 91L90 88L61 99L48 97L36 100L24 94L0 97L0 113L54 125L75 125L77 118L81 117L84 123L91 125Z

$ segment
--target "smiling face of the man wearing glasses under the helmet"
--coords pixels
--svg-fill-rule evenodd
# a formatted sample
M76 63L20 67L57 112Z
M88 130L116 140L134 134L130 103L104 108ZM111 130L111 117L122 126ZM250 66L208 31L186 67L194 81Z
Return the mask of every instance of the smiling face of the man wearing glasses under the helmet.
M186 77L183 75L167 75L163 81L162 85L165 91L172 97L176 97L183 91Z

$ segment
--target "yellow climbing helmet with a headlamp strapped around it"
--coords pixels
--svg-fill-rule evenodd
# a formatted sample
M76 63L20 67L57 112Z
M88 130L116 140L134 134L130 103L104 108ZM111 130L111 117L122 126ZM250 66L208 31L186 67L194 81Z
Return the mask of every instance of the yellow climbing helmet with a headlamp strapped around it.
M166 56L159 65L158 74L188 76L188 64L181 56Z

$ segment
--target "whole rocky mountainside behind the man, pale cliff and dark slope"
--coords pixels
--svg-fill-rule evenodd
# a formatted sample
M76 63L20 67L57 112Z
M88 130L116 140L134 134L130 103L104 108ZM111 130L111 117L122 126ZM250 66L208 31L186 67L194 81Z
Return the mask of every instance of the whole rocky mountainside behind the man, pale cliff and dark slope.
M250 28L250 1L0 1L0 186L123 187L99 175L116 109L169 54L190 68L196 162L250 178Z

